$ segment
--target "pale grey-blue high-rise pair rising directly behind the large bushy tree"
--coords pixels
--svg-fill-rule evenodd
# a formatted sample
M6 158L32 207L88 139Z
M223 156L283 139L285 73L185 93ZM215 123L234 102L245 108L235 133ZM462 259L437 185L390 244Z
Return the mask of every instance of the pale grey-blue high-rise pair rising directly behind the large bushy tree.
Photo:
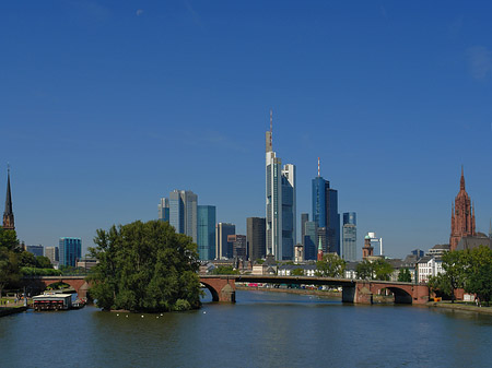
M198 195L189 190L174 190L169 193L169 224L176 233L185 234L197 242Z

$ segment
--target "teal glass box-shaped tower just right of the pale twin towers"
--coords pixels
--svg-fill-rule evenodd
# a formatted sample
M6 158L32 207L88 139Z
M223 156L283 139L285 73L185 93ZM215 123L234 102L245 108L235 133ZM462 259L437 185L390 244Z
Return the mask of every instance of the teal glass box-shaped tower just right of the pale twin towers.
M215 206L199 205L198 211L198 254L200 260L215 259Z

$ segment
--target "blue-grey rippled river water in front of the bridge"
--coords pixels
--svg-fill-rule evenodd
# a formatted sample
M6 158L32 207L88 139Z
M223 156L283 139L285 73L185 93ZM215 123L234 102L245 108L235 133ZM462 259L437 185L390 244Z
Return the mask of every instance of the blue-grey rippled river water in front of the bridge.
M492 317L241 292L183 313L0 318L0 367L491 367ZM141 317L143 316L143 317ZM157 318L159 317L159 318Z

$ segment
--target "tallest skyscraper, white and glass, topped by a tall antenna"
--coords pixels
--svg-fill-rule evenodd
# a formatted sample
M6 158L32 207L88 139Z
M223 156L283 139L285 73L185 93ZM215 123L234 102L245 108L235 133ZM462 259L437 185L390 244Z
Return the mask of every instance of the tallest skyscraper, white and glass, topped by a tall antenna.
M272 147L272 111L270 131L266 133L266 210L267 254L276 260L293 258L295 244L295 166L282 161Z

